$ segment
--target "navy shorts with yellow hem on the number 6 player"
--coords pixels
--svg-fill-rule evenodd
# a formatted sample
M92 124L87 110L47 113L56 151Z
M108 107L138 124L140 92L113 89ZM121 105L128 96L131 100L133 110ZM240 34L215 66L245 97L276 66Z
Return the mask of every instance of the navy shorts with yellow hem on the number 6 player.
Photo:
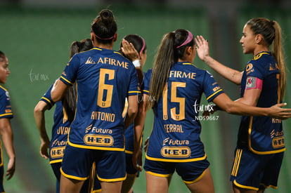
M98 180L117 182L126 178L125 153L98 149L83 149L67 145L60 172L66 178L86 180L95 161Z

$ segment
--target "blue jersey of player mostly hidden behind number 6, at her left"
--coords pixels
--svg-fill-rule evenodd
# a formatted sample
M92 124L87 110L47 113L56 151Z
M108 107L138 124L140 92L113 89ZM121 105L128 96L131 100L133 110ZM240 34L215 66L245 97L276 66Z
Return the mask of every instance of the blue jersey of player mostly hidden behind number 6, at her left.
M41 98L42 101L53 107L54 102L51 100L51 85L48 91ZM67 134L70 131L71 122L67 120L67 114L63 108L62 101L56 102L56 109L53 114L53 128L51 131L51 142L49 145L50 164L62 161L65 145L67 144Z

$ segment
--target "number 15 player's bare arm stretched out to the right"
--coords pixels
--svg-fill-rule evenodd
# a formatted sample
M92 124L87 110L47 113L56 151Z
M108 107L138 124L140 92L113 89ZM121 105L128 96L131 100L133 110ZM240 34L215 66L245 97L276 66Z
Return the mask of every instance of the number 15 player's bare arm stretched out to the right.
M288 119L291 117L291 109L282 108L286 103L273 105L268 108L252 107L228 98L226 93L221 93L214 98L213 102L229 114L243 116L269 116L276 119Z

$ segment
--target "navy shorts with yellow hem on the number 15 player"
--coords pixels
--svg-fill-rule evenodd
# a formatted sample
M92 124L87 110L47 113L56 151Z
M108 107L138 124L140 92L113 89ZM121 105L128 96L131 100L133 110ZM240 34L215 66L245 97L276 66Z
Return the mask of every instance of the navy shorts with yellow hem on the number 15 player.
M143 168L145 172L151 175L164 178L171 176L176 170L183 182L192 184L203 177L208 167L209 161L207 161L207 159L190 162L166 162L145 159L145 166Z

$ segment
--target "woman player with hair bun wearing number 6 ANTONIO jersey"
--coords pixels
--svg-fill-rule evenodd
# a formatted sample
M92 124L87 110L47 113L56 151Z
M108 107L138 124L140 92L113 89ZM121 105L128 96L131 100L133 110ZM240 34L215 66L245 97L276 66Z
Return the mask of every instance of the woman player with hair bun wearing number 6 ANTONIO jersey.
M56 102L77 82L77 110L60 168L61 193L79 192L94 161L102 192L120 192L126 178L124 128L136 116L140 91L132 62L112 51L116 32L112 12L101 11L91 24L94 48L74 55L51 91Z

